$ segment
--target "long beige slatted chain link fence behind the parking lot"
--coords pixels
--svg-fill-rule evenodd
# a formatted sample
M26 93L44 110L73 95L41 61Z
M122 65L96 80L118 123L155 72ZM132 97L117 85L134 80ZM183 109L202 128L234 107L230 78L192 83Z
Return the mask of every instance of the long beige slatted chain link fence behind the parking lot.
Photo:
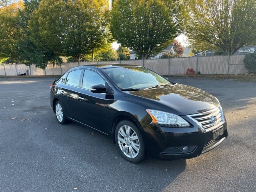
M119 60L98 62L68 62L60 65L48 64L45 69L35 65L24 64L0 65L0 76L15 76L18 74L44 76L62 75L76 66L91 64L131 64L144 66L161 75L185 75L188 68L192 68L196 74L244 74L247 70L243 60L246 55L232 56L202 56L182 57L147 60Z

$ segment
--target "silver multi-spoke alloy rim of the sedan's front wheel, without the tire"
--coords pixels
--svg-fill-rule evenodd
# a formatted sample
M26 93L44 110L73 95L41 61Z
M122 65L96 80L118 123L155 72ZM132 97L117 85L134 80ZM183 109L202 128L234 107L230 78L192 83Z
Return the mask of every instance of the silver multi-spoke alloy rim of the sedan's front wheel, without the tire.
M127 125L121 126L117 135L118 145L129 158L135 158L140 151L140 141L136 132Z

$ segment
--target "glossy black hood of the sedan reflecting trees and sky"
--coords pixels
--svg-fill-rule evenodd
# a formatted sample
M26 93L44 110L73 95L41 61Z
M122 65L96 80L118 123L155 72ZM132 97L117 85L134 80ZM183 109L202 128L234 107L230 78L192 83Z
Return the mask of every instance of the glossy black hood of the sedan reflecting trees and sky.
M125 92L125 95L129 99L136 100L145 108L177 115L196 114L220 105L216 97L204 90L182 84L129 91Z

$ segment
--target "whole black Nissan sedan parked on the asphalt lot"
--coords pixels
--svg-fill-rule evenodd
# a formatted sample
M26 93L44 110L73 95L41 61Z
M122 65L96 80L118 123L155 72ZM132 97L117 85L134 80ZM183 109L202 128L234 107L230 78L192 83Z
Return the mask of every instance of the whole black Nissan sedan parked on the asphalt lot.
M193 158L228 136L216 97L140 66L72 68L50 85L50 103L60 124L102 132L134 163Z

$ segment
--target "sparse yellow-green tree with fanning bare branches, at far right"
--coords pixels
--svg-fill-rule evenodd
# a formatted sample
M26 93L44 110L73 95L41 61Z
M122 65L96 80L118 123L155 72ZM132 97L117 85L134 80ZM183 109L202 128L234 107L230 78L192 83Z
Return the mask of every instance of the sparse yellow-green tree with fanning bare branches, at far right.
M190 0L186 35L197 50L234 54L256 43L256 3L252 0Z

